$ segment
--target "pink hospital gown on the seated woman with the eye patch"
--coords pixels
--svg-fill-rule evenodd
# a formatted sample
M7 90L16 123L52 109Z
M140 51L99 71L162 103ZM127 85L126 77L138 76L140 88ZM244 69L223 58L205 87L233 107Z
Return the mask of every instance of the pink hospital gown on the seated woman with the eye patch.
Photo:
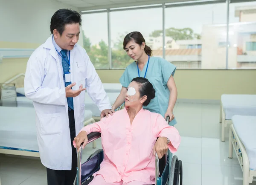
M154 184L155 156L153 147L157 137L170 139L169 150L174 153L180 145L180 135L175 127L169 126L158 113L143 108L132 124L126 108L113 116L85 126L81 131L102 133L104 159L100 174L106 182L141 181ZM80 131L80 132L81 132Z

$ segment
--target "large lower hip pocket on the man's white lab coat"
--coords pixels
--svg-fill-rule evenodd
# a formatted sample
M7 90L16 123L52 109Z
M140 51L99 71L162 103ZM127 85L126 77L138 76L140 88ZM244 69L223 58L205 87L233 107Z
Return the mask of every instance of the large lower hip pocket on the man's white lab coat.
M40 124L41 124L41 134L44 135L58 135L62 133L62 113L53 114L41 114Z

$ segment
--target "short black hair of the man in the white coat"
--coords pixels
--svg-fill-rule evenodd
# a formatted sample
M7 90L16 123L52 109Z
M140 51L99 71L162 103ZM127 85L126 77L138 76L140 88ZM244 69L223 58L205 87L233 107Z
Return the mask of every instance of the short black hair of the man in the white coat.
M81 14L71 9L59 9L52 15L50 30L53 34L53 30L57 31L62 35L65 29L66 24L79 23L81 26Z

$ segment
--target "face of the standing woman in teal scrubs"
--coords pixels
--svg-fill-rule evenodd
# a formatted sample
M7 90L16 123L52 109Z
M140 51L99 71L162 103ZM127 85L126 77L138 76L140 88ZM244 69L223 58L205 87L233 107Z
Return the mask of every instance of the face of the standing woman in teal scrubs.
M135 41L132 39L130 42L128 42L125 46L125 51L129 57L131 57L134 61L137 61L144 52L145 43L142 43L142 45L139 45L135 43Z

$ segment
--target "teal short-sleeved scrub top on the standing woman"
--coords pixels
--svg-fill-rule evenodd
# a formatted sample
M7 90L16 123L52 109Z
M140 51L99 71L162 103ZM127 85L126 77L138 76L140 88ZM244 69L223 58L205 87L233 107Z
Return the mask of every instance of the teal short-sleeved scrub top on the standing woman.
M143 106L144 109L149 110L153 113L159 113L163 117L166 113L169 104L170 91L167 87L167 81L170 76L174 76L176 66L166 61L160 57L150 57L149 63L147 62L140 72L140 77L144 77L145 71L148 64L148 70L145 78L153 85L156 93L155 98L151 99L150 103L147 106ZM139 77L137 64L134 61L128 65L125 69L125 72L120 78L120 83L122 87L128 87L133 78ZM170 125L175 125L177 123L176 119L170 121Z

